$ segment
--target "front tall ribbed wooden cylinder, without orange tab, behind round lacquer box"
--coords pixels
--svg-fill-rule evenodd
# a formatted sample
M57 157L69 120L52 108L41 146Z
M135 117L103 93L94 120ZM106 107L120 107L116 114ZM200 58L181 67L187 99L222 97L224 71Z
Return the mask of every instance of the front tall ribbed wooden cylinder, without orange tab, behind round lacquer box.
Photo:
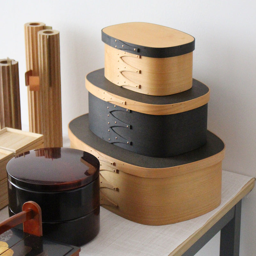
M62 147L59 31L38 32L38 54L44 146Z

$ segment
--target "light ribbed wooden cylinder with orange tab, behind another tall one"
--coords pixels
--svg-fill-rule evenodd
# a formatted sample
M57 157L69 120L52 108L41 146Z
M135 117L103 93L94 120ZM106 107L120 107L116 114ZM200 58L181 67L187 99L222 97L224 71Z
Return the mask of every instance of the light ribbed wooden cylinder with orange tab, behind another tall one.
M30 132L42 133L37 32L51 28L52 27L45 26L42 22L30 22L24 25L27 66L25 77L26 85L28 86L28 117Z

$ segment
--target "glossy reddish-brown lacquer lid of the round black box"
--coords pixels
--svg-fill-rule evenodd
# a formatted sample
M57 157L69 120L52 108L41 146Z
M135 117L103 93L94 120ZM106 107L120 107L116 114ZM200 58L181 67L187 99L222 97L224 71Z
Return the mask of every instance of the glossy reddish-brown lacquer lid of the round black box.
M80 188L99 176L98 159L73 148L43 148L12 158L8 180L21 188L36 191L63 191Z

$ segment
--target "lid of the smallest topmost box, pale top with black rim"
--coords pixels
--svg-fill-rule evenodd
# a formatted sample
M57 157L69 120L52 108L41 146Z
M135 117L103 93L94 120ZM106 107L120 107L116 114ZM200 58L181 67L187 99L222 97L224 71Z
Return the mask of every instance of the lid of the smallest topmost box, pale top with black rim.
M195 49L193 36L146 22L122 23L103 28L101 39L116 49L152 58L179 56Z

